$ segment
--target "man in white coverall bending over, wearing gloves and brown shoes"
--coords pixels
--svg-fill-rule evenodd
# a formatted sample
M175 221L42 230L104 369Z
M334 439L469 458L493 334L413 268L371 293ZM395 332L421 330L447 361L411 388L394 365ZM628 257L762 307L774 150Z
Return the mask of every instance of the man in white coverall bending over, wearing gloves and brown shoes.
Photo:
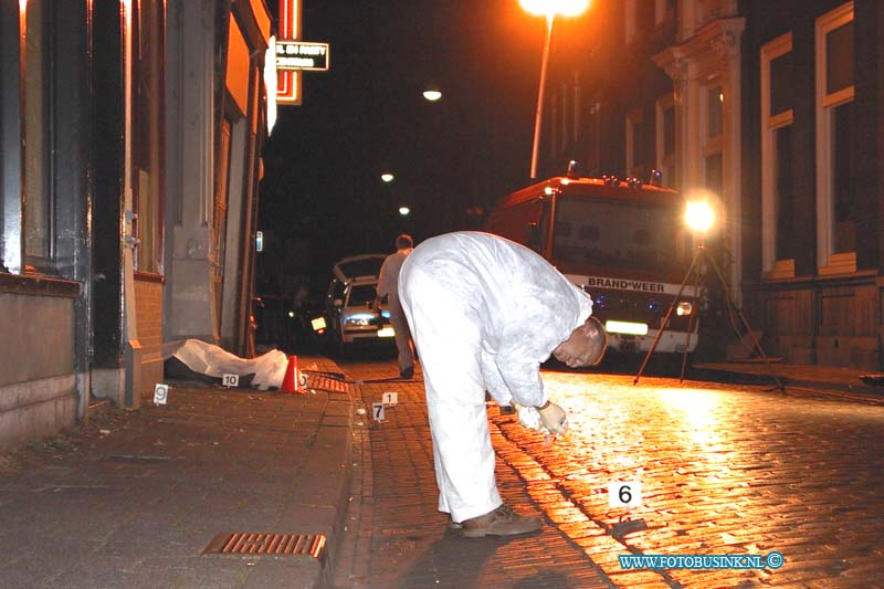
M421 357L439 511L467 537L540 529L503 504L494 478L485 390L501 407L537 408L550 433L567 430L549 402L540 362L598 364L607 336L592 301L532 250L496 235L456 232L408 256L399 298Z

